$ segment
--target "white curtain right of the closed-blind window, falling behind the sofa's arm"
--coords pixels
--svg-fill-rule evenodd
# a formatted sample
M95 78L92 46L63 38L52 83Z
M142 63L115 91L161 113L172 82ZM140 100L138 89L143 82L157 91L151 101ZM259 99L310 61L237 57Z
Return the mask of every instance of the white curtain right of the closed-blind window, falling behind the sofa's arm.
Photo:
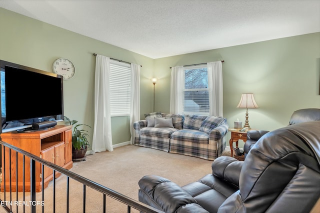
M140 65L131 63L130 144L134 144L134 121L140 119Z

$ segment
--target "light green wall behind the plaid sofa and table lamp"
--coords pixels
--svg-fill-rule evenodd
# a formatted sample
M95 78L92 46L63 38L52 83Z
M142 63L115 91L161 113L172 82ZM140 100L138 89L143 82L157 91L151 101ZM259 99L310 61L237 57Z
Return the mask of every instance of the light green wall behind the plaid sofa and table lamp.
M320 108L317 32L155 59L156 110L169 110L169 67L217 60L224 60L223 115L230 127L237 118L244 124L245 109L236 108L241 93L254 93L260 107L248 109L251 128L273 130L296 109Z

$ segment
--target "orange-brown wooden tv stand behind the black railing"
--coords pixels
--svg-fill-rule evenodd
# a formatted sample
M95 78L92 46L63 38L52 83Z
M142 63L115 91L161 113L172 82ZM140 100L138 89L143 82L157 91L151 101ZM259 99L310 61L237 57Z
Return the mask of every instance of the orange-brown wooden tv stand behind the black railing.
M1 133L1 140L14 145L20 149L30 152L41 157L49 162L59 165L65 169L72 167L72 132L71 125L56 125L53 128L32 132L6 132ZM9 165L11 163L11 191L16 191L16 152L11 150L11 162L9 159L9 148L5 147L5 159L3 159L2 147L2 174L5 174L5 190L9 191ZM4 170L5 160L5 170ZM23 157L18 153L17 160L17 190L23 190ZM30 191L30 159L25 157L24 162L24 190ZM56 177L59 173L56 172ZM53 170L42 165L39 162L35 163L35 187L36 191L41 191L42 177L44 178L44 188L53 179ZM4 191L4 176L1 181L1 191Z

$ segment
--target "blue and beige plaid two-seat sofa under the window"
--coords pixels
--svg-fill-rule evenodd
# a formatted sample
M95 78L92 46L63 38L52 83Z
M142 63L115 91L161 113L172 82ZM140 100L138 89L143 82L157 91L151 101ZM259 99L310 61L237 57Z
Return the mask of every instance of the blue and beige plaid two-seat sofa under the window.
M220 116L161 112L145 114L145 120L135 121L133 127L135 145L208 160L222 154L228 131L226 119Z

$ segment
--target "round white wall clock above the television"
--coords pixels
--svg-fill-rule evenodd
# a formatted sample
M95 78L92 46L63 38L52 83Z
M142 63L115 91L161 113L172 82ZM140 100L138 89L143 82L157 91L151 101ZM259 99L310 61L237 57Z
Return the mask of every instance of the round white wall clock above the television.
M56 74L62 75L63 80L70 79L74 75L74 65L66 58L58 58L52 64L52 71Z

